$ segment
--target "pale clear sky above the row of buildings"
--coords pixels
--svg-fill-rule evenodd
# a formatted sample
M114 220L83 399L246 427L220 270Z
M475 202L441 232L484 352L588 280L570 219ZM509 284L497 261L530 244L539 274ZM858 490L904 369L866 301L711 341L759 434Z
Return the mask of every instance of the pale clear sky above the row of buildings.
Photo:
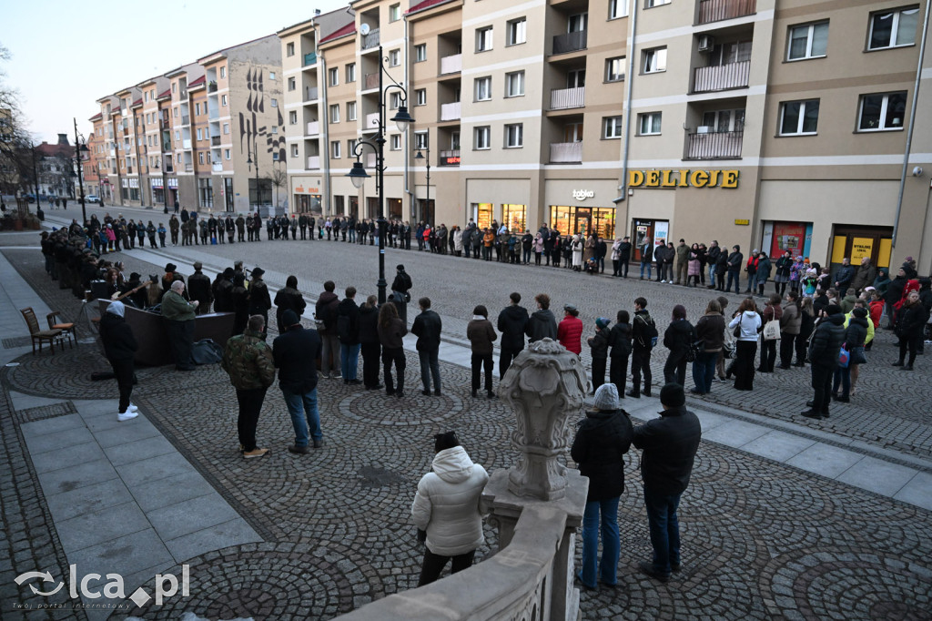
M90 133L97 100L160 76L218 49L275 34L349 0L202 0L108 3L26 0L4 3L0 62L7 88L37 142Z

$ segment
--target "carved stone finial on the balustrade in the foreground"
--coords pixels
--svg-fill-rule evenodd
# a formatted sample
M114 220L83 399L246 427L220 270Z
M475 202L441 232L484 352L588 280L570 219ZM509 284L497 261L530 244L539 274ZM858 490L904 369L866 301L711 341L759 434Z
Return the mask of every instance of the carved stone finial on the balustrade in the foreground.
M579 356L550 338L534 341L508 367L499 395L517 418L512 444L521 452L509 471L508 490L541 500L563 498L569 449L567 421L578 417L588 384Z

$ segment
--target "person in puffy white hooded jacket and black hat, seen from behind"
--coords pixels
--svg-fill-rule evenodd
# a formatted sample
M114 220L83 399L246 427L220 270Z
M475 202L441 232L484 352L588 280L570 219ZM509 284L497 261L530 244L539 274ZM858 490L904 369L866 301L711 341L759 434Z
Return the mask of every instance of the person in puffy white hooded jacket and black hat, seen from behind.
M427 532L427 549L418 586L429 585L453 559L450 573L473 565L475 550L485 543L480 507L488 474L459 446L454 432L434 435L432 472L421 477L411 505L418 531ZM419 538L419 537L418 537Z

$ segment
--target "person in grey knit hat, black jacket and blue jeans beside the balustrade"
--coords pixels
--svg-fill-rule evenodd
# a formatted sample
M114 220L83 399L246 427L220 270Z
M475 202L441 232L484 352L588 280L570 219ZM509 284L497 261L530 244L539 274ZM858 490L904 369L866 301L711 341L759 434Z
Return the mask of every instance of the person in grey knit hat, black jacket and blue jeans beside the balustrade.
M586 412L570 450L580 473L589 477L583 513L583 567L576 577L590 589L596 588L596 565L602 584L617 584L621 551L618 500L624 491L624 454L631 448L634 436L628 413L619 408L614 384L599 386L593 407L593 411ZM596 553L600 526L602 558L599 563Z

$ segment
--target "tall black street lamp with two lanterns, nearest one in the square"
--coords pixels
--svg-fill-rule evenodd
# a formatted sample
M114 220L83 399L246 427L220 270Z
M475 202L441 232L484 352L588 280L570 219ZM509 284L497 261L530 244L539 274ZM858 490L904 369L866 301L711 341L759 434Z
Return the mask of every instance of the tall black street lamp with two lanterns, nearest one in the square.
M388 221L385 219L385 95L391 89L398 90L400 93L400 102L398 111L391 120L395 122L398 131L404 133L408 125L414 122L414 119L407 112L407 90L395 82L394 78L389 76L392 84L383 88L383 76L389 76L385 71L385 57L382 56L382 46L378 46L378 131L376 136L371 140L358 140L352 147L352 154L356 156L352 169L347 173L352 185L359 189L369 178L369 173L365 172L363 162L360 158L363 156L363 145L368 145L376 152L376 192L378 196L378 303L385 304L385 290L388 283L385 281L385 229Z

